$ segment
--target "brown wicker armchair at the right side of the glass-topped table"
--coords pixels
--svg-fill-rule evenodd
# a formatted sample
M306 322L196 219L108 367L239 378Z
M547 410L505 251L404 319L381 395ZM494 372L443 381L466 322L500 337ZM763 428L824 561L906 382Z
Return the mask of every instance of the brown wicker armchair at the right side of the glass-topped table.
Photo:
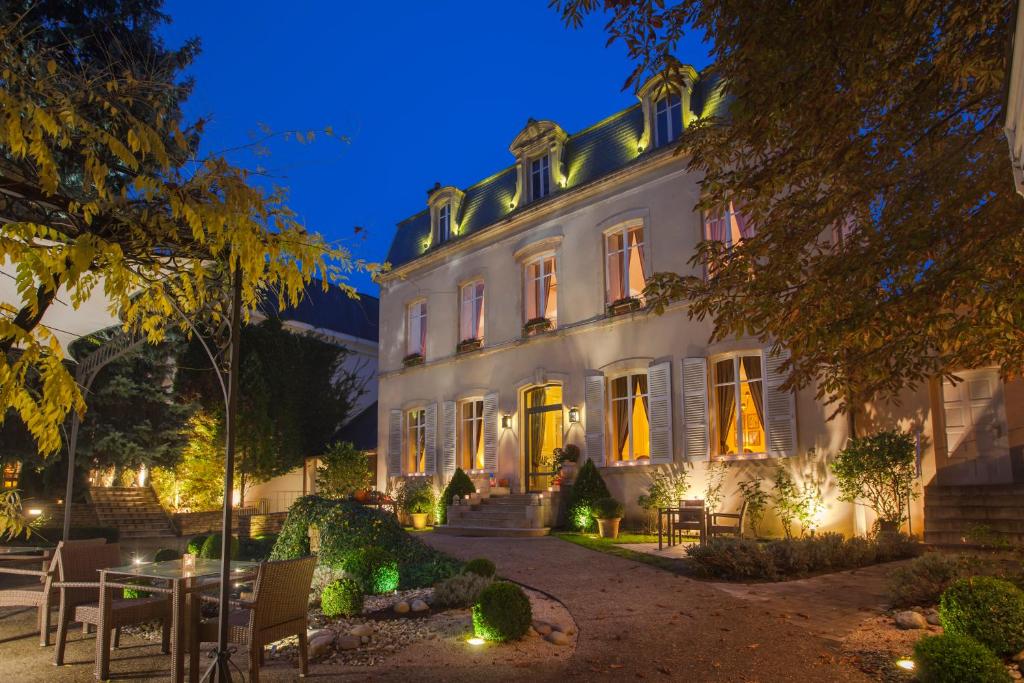
M228 612L227 639L245 645L249 652L249 680L259 683L263 647L288 636L299 638L299 668L309 673L306 628L309 613L309 587L313 581L315 557L263 562L256 575L253 599L232 600ZM205 600L219 602L211 596ZM204 620L193 630L188 646L188 679L199 679L200 643L217 641L217 620Z

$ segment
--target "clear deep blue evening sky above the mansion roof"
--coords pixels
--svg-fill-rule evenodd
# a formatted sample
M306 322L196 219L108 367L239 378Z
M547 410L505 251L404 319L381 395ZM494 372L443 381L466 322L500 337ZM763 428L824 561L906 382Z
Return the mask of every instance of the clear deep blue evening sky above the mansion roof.
M207 152L246 144L261 122L350 138L280 140L268 157L232 159L266 168L310 229L371 261L434 181L465 187L511 164L527 118L572 133L636 101L622 90L626 50L605 47L603 22L568 30L547 0L172 0L165 11L170 45L203 42L186 113L212 118ZM695 38L679 56L708 63ZM362 274L352 282L377 293Z

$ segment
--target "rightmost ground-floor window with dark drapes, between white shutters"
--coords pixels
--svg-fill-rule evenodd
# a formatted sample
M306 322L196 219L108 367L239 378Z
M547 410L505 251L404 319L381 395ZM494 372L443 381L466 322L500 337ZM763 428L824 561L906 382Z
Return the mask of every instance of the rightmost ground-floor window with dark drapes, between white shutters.
M761 354L736 355L715 362L712 389L716 454L741 456L765 453Z

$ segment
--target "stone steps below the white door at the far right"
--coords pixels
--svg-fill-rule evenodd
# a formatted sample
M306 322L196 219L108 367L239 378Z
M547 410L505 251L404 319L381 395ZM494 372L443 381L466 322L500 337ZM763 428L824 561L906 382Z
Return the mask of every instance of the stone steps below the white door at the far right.
M925 542L1024 545L1024 484L926 486Z

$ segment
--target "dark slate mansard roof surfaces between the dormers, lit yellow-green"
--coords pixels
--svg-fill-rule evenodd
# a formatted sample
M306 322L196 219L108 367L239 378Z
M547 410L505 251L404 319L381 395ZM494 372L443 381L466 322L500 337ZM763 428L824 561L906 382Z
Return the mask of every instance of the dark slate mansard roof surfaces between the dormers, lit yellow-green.
M694 84L690 109L698 117L723 117L727 104L721 81L706 71ZM643 111L637 103L570 135L564 152L566 186L549 197L585 185L644 158L637 152L642 134ZM515 178L515 166L510 166L467 187L459 221L460 236L450 243L520 211L521 208L510 208ZM424 209L398 223L387 260L392 267L409 263L425 253L429 238L430 212Z

